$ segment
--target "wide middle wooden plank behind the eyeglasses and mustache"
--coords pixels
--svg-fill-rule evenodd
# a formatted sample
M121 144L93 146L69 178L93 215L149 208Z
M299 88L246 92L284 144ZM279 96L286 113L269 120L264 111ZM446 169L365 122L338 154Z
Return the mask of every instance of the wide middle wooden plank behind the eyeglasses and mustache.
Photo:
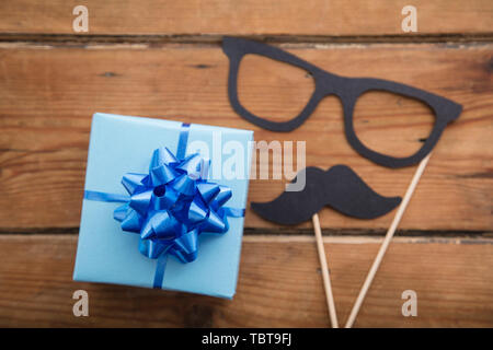
M463 104L459 120L438 142L400 228L491 230L493 45L283 47L334 73L395 80ZM309 120L290 133L261 130L241 119L229 105L228 60L218 46L3 44L0 57L0 229L4 231L79 225L94 112L253 129L257 141L306 141L307 165L347 164L385 196L402 196L415 168L377 166L351 149L335 97L322 101ZM289 66L267 72L263 67L262 60L250 60L242 68L240 98L267 114L293 113L289 102L301 96L299 86L309 89L311 78L286 78ZM365 142L380 150L393 149L397 142L405 152L420 147L429 127L426 108L388 95L365 97L362 103L355 122ZM285 182L252 180L249 199L272 200ZM392 215L358 221L323 209L320 218L323 228L385 230ZM245 225L275 228L250 211Z

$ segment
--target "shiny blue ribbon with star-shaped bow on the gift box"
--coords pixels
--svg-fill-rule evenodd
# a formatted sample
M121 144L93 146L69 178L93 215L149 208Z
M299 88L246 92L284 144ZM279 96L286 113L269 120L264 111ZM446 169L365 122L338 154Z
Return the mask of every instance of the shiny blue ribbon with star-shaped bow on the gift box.
M122 230L140 235L139 250L158 259L153 288L161 289L168 255L191 262L198 253L198 236L223 234L226 217L244 217L244 209L223 205L229 187L207 180L210 161L198 153L185 158L190 124L183 124L176 156L168 148L153 151L148 174L127 173L122 184L128 195L85 190L84 198L124 202L114 211Z

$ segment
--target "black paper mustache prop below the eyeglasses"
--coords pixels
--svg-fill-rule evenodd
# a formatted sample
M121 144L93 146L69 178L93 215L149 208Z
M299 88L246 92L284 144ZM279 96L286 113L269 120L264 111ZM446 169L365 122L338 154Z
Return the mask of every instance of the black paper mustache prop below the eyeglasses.
M303 171L303 190L285 191L270 202L252 202L252 209L268 221L291 225L310 220L325 206L349 217L375 219L401 202L401 197L383 197L374 191L346 165L335 165L328 171L309 166Z

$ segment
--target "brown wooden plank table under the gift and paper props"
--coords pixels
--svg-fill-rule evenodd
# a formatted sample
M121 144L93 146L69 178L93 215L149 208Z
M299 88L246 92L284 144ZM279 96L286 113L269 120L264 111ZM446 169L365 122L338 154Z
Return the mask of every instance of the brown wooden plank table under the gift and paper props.
M402 32L408 1L400 0L87 0L89 33L72 31L77 4L0 2L0 326L329 326L310 223L280 228L250 210L233 301L71 280L94 112L306 140L307 165L345 163L378 192L403 195L415 167L388 170L356 154L335 97L290 133L236 115L222 35L265 40L337 74L395 80L465 106L434 151L355 326L493 326L492 1L415 0L417 33ZM293 67L248 63L241 98L257 113L293 114L312 88ZM395 154L415 150L431 126L426 107L391 95L369 94L357 112L365 142ZM253 180L249 199L271 200L283 186ZM320 213L341 323L392 215ZM78 289L89 292L89 317L72 315ZM402 316L404 290L417 293L417 317Z

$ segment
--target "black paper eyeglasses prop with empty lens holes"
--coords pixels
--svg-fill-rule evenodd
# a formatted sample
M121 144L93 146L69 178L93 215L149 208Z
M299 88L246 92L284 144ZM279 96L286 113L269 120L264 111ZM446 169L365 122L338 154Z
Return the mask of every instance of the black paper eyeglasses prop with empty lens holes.
M225 37L222 40L222 50L228 56L230 62L228 78L229 102L234 112L242 118L266 130L283 132L293 131L310 117L321 100L329 95L336 95L341 98L343 104L344 129L347 142L364 158L387 167L409 166L423 160L435 147L445 127L450 121L457 119L462 110L462 106L454 101L432 94L424 90L375 78L340 77L324 71L293 54L265 44L234 37ZM297 117L288 121L271 121L252 114L243 107L238 98L238 71L241 59L248 54L268 57L280 62L302 68L313 77L316 89L307 105ZM422 148L414 154L406 158L386 155L368 149L359 140L354 130L353 112L358 97L368 91L386 91L403 95L421 101L432 108L435 114L433 130L428 138L426 138Z

